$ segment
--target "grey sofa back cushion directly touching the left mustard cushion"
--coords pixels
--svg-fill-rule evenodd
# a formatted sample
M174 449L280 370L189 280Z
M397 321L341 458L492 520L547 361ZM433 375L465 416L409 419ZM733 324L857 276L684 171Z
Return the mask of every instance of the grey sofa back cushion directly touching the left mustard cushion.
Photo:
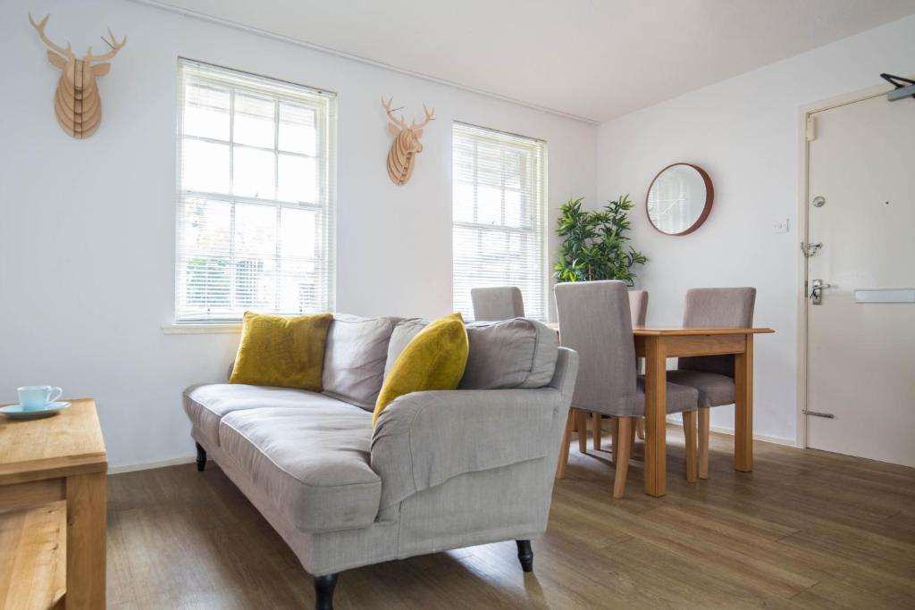
M324 391L334 398L375 408L384 363L398 318L334 316L324 352Z

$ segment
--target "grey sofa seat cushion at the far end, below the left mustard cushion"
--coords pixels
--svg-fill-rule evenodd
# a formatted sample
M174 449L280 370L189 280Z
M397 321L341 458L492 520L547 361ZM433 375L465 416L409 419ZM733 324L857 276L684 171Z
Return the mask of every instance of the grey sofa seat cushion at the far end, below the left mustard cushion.
M310 409L339 404L336 399L311 391L242 383L211 383L191 386L184 391L184 410L190 423L210 444L220 443L220 420L231 412L264 407Z

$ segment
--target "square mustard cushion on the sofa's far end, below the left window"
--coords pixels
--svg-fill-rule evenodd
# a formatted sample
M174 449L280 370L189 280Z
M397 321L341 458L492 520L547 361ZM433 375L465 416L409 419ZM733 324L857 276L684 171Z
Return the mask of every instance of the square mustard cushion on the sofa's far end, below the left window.
M267 316L244 312L230 383L322 391L324 345L333 316Z

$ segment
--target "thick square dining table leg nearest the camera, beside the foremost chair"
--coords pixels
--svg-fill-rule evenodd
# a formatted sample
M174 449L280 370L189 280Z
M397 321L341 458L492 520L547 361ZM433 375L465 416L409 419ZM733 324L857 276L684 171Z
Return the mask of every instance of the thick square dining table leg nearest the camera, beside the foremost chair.
M645 493L663 496L667 492L667 360L663 338L645 341Z

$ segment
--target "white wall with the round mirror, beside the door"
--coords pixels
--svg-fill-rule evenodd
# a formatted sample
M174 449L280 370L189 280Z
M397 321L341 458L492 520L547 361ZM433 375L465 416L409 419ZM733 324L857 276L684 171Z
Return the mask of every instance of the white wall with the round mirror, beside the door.
M651 293L649 322L680 322L690 287L759 289L756 323L776 334L756 342L756 433L790 442L797 433L800 109L877 85L880 72L910 75L913 31L910 16L599 128L597 193L631 192L640 205L632 224L651 258L639 275ZM677 161L708 171L715 206L700 230L669 237L642 210L651 178ZM789 232L773 232L777 219L789 219ZM732 428L732 415L713 410L713 426Z

